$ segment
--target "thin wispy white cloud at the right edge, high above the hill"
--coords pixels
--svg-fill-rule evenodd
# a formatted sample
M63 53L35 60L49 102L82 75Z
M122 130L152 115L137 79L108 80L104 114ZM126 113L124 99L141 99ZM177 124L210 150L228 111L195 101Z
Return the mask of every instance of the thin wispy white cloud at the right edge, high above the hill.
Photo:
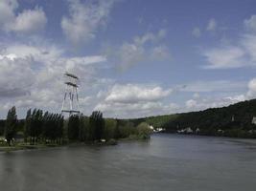
M254 30L256 15L244 20L244 26L248 30ZM255 26L254 26L255 25ZM208 64L205 69L230 69L251 67L256 65L256 34L243 32L238 40L222 43L221 46L204 49L202 55Z

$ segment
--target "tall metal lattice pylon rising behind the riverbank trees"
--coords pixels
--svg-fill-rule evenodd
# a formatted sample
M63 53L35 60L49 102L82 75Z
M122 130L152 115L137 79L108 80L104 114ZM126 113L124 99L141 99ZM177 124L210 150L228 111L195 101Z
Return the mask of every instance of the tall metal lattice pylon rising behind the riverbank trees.
M65 94L62 101L61 114L68 113L69 116L80 113L78 82L79 77L75 74L65 73ZM68 103L69 102L69 103Z

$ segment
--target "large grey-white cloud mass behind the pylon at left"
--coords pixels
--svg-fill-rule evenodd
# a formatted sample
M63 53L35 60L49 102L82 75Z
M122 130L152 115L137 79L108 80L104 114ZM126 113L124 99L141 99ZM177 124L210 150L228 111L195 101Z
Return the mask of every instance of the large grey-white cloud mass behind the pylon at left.
M90 94L97 85L110 83L95 76L95 64L104 61L102 55L67 57L54 45L7 45L0 50L0 110L15 105L19 110L37 107L59 112L63 73L69 70L81 76L81 111L91 112L93 105L88 107L84 94Z

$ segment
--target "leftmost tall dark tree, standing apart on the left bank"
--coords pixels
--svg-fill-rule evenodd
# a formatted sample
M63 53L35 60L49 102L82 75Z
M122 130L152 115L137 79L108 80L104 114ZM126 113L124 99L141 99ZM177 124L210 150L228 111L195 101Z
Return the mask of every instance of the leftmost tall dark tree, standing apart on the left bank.
M8 145L11 145L11 140L14 138L17 127L17 115L16 108L13 106L7 115L6 126L5 126L5 138L7 139Z

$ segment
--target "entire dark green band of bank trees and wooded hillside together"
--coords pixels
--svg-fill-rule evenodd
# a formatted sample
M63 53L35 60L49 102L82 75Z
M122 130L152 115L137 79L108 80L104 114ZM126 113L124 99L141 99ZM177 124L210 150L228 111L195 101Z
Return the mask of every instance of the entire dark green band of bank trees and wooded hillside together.
M189 128L190 134L202 136L256 138L253 117L256 117L256 99L198 112L131 119L104 118L100 111L92 112L89 117L74 115L64 119L40 109L30 109L26 118L18 119L12 107L7 118L0 120L0 136L5 137L9 145L12 138L22 138L30 144L113 141L150 138L151 125L154 129L163 128L165 133Z

